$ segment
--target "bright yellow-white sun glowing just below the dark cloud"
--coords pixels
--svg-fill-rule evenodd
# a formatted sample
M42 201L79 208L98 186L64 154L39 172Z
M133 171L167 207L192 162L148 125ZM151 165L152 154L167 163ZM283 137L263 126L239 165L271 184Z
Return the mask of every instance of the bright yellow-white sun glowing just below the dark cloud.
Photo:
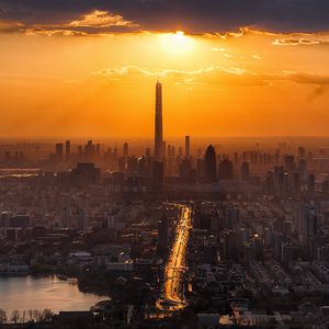
M161 43L163 50L172 55L184 55L194 48L193 38L185 35L183 31L162 34Z

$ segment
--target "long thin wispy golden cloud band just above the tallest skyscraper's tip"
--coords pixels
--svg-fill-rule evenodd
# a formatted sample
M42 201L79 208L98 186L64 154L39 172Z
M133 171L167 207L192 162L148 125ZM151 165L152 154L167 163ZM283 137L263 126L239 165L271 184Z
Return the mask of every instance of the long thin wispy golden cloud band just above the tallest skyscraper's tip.
M92 72L93 77L122 81L123 79L170 79L177 86L243 86L243 87L271 87L273 83L292 82L309 84L315 89L307 101L314 100L325 93L329 87L329 76L308 75L296 71L281 71L274 75L259 73L239 67L208 66L197 70L150 70L137 66L106 68Z

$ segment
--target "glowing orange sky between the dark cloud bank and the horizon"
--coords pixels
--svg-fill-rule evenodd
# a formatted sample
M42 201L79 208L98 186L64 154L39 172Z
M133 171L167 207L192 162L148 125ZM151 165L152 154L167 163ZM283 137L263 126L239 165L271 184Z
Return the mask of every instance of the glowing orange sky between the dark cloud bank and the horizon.
M328 39L2 33L0 137L150 137L157 78L164 136L328 136Z

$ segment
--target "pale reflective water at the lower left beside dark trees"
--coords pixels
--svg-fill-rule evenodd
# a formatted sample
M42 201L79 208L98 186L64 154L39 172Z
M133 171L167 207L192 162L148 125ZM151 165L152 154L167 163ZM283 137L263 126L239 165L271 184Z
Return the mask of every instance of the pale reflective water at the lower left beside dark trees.
M89 310L106 296L83 294L77 284L57 276L2 277L0 276L0 308L8 315L13 309L27 310L50 308L59 310Z

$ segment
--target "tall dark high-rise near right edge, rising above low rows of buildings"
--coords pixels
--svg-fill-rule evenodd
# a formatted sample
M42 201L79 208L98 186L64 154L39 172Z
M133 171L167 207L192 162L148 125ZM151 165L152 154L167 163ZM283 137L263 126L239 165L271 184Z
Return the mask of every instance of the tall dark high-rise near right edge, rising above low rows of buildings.
M317 213L314 204L300 204L297 211L297 232L300 245L306 246L317 235Z

